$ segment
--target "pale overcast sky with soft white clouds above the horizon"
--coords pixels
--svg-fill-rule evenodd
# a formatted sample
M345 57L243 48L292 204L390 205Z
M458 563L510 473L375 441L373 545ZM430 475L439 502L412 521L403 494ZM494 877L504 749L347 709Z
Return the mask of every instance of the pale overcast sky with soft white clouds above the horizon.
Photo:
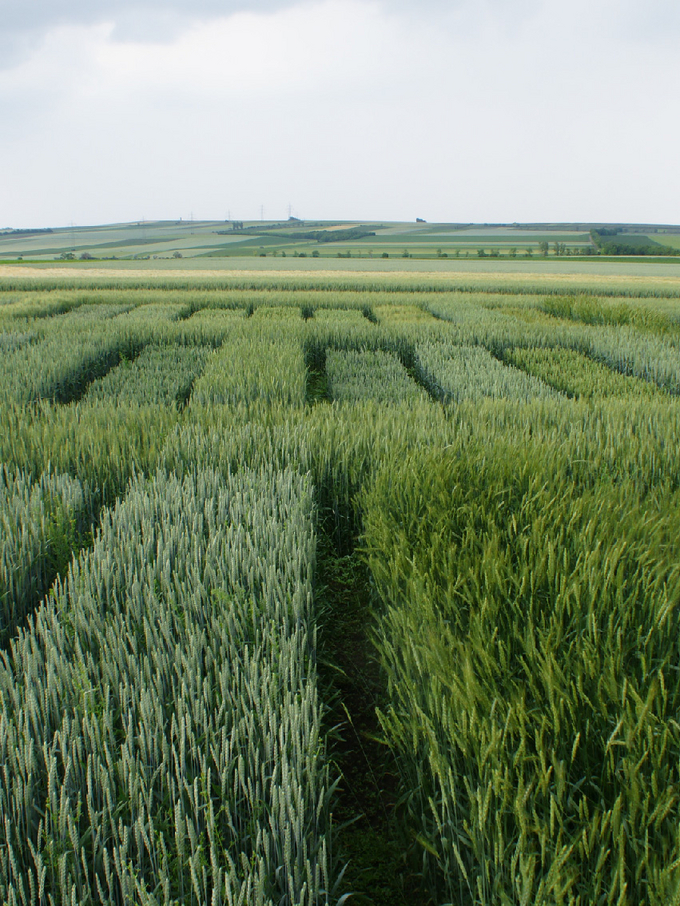
M678 0L0 0L0 227L680 222Z

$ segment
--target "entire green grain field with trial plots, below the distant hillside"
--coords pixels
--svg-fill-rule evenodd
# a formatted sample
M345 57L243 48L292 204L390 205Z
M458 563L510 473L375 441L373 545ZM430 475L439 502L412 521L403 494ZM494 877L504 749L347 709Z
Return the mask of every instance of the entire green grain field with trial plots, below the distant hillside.
M2 903L678 902L680 272L463 263L0 266Z

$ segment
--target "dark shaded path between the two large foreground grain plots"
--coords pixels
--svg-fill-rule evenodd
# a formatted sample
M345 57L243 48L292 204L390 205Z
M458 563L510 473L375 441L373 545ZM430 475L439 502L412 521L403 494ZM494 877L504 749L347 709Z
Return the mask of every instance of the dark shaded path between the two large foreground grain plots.
M327 609L320 674L331 696L327 725L337 728L331 755L342 774L333 810L336 845L347 864L342 891L353 894L354 906L429 906L400 820L396 765L376 715L383 689L369 638L367 570L356 553L336 557L329 544L320 547Z

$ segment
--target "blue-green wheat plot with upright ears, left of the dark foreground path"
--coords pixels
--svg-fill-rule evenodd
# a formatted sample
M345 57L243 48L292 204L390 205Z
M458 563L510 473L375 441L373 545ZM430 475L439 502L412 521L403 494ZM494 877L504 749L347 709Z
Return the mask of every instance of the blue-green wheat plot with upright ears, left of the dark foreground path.
M0 668L4 902L328 902L310 488L138 480Z

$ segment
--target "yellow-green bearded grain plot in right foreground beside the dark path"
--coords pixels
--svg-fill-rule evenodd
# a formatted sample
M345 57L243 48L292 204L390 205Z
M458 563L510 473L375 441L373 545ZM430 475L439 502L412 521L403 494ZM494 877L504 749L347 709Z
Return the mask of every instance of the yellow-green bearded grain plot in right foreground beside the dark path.
M446 902L677 895L678 492L499 441L391 463L365 507L381 714Z

